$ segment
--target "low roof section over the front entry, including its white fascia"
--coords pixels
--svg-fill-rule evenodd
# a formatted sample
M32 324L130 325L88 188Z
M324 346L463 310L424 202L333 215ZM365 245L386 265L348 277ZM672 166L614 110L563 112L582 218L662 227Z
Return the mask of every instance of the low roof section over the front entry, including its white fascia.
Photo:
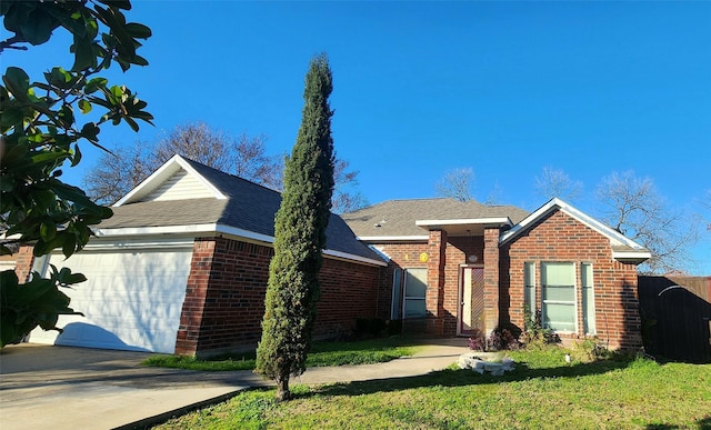
M365 241L427 240L428 230L450 236L481 234L484 226L508 226L528 216L513 206L462 202L449 198L389 200L341 216L356 236Z

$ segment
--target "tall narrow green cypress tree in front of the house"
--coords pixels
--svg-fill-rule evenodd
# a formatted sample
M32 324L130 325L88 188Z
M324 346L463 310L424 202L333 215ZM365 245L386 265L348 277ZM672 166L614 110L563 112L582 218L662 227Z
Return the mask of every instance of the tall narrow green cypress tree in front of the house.
M256 371L277 381L280 401L291 397L290 376L306 370L320 298L318 276L333 193L332 88L328 58L314 57L306 77L301 127L284 168L257 349Z

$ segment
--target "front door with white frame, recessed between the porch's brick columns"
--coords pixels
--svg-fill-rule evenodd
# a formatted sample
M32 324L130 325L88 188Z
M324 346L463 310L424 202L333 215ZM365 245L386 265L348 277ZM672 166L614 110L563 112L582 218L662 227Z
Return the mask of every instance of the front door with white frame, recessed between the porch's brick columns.
M462 267L459 279L458 334L470 336L484 321L484 268Z

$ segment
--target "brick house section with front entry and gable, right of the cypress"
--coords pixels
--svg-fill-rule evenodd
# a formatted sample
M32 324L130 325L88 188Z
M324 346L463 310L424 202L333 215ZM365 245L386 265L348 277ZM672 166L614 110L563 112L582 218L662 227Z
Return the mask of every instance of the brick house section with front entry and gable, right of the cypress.
M342 217L388 260L379 317L438 336L513 331L540 312L563 340L638 348L637 264L650 252L570 204L532 213L452 199L392 200Z

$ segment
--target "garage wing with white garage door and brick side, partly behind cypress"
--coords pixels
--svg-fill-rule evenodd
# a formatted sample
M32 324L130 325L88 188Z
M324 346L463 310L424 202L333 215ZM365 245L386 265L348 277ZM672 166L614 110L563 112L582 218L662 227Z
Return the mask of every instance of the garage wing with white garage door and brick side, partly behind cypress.
M113 206L113 217L81 252L32 261L29 247L20 251L20 278L51 263L89 279L68 292L86 318L62 316L62 334L37 329L29 341L180 354L256 346L280 199L173 157ZM374 316L385 266L339 217L331 217L327 234L317 337Z

